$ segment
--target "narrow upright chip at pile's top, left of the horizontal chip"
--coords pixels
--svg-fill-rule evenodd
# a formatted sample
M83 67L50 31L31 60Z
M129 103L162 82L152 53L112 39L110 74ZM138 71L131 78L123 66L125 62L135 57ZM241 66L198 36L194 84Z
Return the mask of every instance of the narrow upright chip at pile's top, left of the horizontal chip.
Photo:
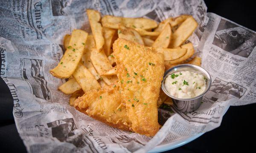
M98 51L103 49L105 40L103 37L103 29L102 25L99 23L100 21L100 13L96 10L87 9L87 16L90 23L90 27L92 29L93 37L96 42L96 48Z

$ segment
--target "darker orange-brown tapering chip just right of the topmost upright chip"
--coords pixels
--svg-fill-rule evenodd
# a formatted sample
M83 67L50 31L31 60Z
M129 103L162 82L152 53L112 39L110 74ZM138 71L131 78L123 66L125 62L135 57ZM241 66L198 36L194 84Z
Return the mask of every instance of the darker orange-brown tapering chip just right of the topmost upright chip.
M116 29L103 27L103 37L105 40L104 51L106 56L109 56L111 54L111 45L113 44L112 39L115 33L116 33Z

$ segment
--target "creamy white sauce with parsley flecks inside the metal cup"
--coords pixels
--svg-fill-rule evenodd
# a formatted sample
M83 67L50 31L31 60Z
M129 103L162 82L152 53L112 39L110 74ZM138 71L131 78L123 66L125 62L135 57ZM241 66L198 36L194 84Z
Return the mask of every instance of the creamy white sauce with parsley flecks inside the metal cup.
M177 98L193 98L202 94L207 79L198 73L180 71L166 77L164 85L170 95Z

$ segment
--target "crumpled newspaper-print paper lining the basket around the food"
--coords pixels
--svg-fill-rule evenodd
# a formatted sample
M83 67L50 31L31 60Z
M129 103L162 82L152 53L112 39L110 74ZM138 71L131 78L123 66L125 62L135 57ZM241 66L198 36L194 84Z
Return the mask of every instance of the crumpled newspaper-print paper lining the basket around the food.
M213 80L200 108L180 113L162 105L159 122L165 124L150 138L109 127L70 107L69 96L57 90L65 81L49 70L63 55L64 34L75 28L90 32L86 8L158 22L191 14L199 27L189 41ZM230 105L256 102L255 31L206 10L202 0L1 2L1 77L13 96L15 123L28 152L146 152L220 126Z

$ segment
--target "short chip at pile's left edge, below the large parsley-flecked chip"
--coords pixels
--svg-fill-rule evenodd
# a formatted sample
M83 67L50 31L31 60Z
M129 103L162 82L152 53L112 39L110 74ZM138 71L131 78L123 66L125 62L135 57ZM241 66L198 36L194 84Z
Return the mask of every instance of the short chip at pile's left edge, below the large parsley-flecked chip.
M64 94L73 94L75 91L81 89L80 85L76 82L75 78L69 79L67 82L63 83L58 87L60 91Z

